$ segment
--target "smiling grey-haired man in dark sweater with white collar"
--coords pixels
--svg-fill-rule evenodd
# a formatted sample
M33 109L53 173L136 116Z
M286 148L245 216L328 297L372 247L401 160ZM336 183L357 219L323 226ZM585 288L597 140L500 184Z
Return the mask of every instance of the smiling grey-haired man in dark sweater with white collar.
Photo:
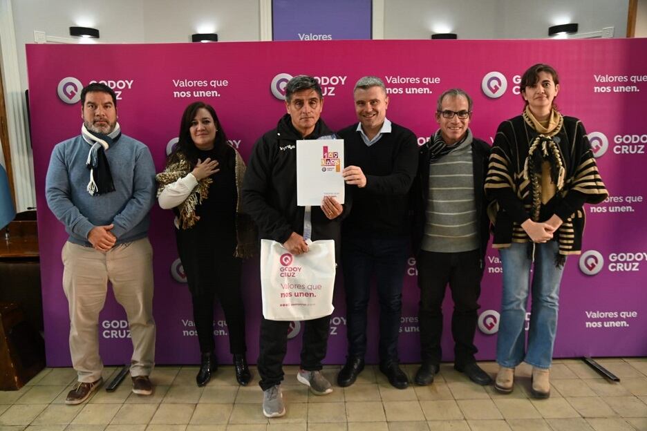
M386 119L388 96L382 79L359 79L353 95L359 122L339 132L345 141L344 180L353 186L353 211L341 230L348 357L337 383L352 385L364 369L368 294L375 276L379 370L391 385L404 389L409 381L398 365L397 337L410 251L408 193L418 165L418 145L413 132Z

